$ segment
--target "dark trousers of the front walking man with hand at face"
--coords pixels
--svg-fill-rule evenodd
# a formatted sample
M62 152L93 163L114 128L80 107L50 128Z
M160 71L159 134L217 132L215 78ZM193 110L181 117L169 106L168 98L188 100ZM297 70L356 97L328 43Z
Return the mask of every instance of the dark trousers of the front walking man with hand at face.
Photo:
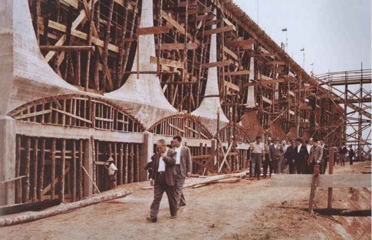
M157 218L159 213L160 202L165 192L168 196L169 210L171 216L177 215L177 199L176 199L176 186L169 186L165 181L165 173L158 172L154 185L154 200L150 207L151 217Z

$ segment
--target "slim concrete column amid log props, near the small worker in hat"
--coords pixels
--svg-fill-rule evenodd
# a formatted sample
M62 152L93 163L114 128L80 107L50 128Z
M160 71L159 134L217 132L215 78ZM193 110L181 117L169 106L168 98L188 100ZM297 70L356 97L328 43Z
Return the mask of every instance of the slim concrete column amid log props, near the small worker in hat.
M93 138L84 140L84 159L83 166L93 179L93 160L92 160ZM93 193L93 183L89 180L87 174L83 171L83 196L88 197Z

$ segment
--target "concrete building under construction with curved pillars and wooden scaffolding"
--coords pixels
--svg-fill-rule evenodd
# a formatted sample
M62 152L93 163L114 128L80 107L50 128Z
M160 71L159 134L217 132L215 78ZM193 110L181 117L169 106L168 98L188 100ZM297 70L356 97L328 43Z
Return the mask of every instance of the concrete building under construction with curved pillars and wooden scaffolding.
M257 135L338 146L363 109L231 0L1 0L0 42L0 205L105 191L110 157L143 181L175 135L199 174L247 168Z

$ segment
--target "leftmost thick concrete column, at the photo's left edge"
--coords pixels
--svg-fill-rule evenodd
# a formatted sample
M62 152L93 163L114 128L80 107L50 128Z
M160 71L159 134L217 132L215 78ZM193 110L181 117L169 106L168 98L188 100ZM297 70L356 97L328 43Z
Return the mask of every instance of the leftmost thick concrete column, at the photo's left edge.
M15 177L15 120L0 115L0 181ZM0 205L15 203L15 181L0 184Z

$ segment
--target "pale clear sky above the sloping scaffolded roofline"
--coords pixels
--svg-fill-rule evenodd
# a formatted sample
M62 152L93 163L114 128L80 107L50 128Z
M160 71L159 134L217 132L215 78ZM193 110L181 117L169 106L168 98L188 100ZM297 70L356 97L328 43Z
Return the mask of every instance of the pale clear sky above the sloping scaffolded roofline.
M371 69L371 0L234 0L310 74ZM258 2L258 20L257 20Z

